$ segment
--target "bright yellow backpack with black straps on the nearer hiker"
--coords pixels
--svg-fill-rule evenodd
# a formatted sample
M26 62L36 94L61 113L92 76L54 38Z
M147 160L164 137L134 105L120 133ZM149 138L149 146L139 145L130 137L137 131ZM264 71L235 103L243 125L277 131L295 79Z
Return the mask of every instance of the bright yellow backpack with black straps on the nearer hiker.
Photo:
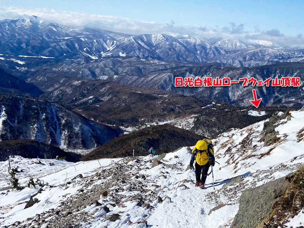
M196 163L199 165L205 165L207 164L207 162L209 161L209 157L207 154L209 148L209 152L214 155L213 152L213 147L212 147L212 141L209 139L203 139L203 140L199 140L197 141L197 143L195 144L195 147L192 150L192 153L194 152L195 149L197 149L197 154L195 157Z

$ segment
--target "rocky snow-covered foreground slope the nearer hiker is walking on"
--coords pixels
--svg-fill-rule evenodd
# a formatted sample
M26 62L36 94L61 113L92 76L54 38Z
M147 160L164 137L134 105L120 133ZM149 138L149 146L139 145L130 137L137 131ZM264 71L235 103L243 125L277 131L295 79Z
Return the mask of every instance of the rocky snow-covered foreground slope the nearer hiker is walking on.
M22 186L31 176L49 185L33 197L40 202L23 209L30 195L37 193L40 187L4 190L9 186L8 161L1 162L0 224L2 227L13 227L15 223L14 227L33 224L50 228L59 224L146 227L146 223L158 227L230 227L244 189L283 177L304 164L301 133L304 112L290 114L289 120L279 120L281 125L275 128L279 139L270 146L264 146L260 141L264 121L223 133L212 140L216 161L220 163L213 169L215 190L212 174L207 177L206 189L194 186L194 171L185 171L191 157L189 148L185 147L159 157L162 164L153 168L150 155L75 164L41 160L45 165L35 164L37 159L16 156L12 158L11 166L18 165L19 170L25 170L16 174ZM84 178L72 181L78 174ZM227 186L230 178L239 175L241 183ZM108 195L100 195L102 190L107 190ZM302 217L300 212L288 227L295 227Z

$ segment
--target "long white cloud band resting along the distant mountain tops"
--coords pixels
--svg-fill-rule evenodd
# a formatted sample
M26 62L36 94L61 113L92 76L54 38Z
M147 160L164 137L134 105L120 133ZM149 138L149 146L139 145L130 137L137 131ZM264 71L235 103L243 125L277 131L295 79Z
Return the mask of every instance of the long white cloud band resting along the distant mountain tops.
M151 22L137 19L121 18L117 16L89 15L78 12L54 9L21 9L16 7L1 7L0 20L30 18L32 15L41 20L56 22L71 26L89 26L132 35L164 33L172 36L189 35L202 40L217 41L220 39L237 39L244 43L267 43L276 46L304 46L302 35L286 36L278 29L268 31L245 31L244 24L224 28L202 27L198 25L177 25L174 22ZM259 42L261 41L261 42Z

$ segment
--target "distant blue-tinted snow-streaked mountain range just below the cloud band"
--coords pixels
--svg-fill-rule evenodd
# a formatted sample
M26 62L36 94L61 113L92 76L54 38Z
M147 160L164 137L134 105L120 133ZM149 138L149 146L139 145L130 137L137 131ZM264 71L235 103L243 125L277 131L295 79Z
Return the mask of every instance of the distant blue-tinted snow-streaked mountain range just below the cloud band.
M239 40L198 40L165 34L128 35L102 29L59 25L39 18L2 20L0 54L25 58L139 57L164 61L220 62L258 66L304 59L303 47ZM3 57L2 57L3 58ZM18 60L18 59L17 59Z

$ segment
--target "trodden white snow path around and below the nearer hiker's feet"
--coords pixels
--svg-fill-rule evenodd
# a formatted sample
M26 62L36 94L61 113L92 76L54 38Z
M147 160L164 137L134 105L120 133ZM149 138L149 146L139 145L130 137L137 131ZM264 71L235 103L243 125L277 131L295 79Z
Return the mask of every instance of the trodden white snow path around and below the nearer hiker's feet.
M174 155L179 157L179 162L183 163L183 168L185 170L190 161L191 154L187 152L186 148L183 148L173 154L167 154L164 160L170 159L171 157L174 157ZM176 163L176 159L174 161L173 158L171 162L165 163L174 164ZM150 171L153 169L154 168ZM163 203L158 204L155 211L147 219L148 224L159 227L223 227L237 213L238 204L233 204L225 206L208 215L209 211L217 206L209 202L209 199L207 198L211 192L215 192L213 190L212 174L207 177L206 188L200 189L194 185L194 170L188 170L178 174L180 173L178 170L175 171L161 168L155 170L154 175L151 175L150 179L152 180L155 178L155 180L157 180L156 178L159 171L164 173L170 172L170 174L167 175L167 178L161 178L160 180L155 181L155 183L156 185L161 185L161 187L168 186L168 189L170 190L161 192L159 195L162 199L164 199L165 196L169 196L172 202L170 202L169 199L166 199ZM214 175L216 174L217 172L215 171ZM183 179L192 179L193 182L180 182ZM185 186L179 187L181 185ZM222 185L215 186L217 192L221 187ZM226 216L219 216L223 214Z

